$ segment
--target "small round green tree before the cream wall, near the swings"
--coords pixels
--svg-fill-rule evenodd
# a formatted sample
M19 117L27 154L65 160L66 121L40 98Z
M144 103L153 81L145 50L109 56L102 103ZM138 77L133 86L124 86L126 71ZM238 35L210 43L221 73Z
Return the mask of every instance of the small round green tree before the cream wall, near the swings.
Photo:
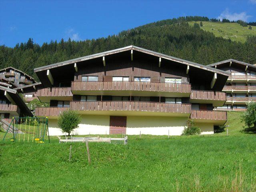
M64 111L58 117L58 126L62 132L70 133L75 128L78 128L78 124L81 122L81 117L75 111Z

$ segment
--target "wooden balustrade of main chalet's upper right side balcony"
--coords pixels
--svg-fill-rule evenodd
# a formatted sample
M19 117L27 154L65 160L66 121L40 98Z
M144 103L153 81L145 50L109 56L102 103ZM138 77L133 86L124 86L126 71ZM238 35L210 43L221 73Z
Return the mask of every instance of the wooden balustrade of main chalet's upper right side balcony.
M226 101L226 93L219 91L191 90L190 99Z

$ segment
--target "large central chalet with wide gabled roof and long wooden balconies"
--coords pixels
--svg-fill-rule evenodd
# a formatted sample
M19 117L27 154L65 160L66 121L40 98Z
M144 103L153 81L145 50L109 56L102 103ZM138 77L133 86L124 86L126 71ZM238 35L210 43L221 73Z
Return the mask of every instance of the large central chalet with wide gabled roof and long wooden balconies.
M73 134L180 135L191 119L212 134L224 125L221 92L229 72L136 46L93 54L35 68L42 88L37 96L50 107L50 135L62 135L58 115L75 110L82 116Z

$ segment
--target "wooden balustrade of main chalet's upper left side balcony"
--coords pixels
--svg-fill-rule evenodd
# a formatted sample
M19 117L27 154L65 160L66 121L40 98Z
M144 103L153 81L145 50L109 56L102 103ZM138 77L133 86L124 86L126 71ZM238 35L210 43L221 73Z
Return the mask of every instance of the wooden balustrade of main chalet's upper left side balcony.
M73 96L70 87L38 88L38 97Z

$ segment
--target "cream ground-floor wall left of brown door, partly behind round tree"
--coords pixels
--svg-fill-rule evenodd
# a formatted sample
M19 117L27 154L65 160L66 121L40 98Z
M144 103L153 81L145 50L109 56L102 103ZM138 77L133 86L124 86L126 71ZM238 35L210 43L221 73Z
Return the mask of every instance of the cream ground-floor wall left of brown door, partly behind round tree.
M88 134L109 134L110 116L104 115L82 115L79 127L71 132L72 135L88 135ZM64 135L58 128L58 120L49 119L49 134Z

